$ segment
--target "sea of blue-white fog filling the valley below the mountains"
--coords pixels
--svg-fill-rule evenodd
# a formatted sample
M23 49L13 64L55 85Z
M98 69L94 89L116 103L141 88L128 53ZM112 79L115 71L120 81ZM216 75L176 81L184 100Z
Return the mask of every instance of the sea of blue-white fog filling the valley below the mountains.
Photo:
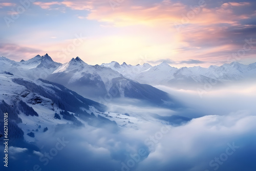
M11 147L9 165L18 170L48 171L255 170L255 83L203 94L156 87L183 102L186 109L109 103L111 112L129 113L146 121L136 123L136 129L119 127L115 132L108 126L65 126L38 137L37 150ZM191 120L173 126L154 121L150 114L182 115Z

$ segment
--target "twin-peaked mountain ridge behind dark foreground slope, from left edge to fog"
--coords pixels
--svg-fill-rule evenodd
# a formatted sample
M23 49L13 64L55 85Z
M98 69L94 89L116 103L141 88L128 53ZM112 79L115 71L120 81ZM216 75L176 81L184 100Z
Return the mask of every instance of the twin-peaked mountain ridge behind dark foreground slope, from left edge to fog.
M159 89L127 78L111 68L88 65L79 57L62 65L53 61L48 54L20 62L1 57L0 66L0 72L57 82L83 97L101 103L128 98L165 108L180 106L169 94Z

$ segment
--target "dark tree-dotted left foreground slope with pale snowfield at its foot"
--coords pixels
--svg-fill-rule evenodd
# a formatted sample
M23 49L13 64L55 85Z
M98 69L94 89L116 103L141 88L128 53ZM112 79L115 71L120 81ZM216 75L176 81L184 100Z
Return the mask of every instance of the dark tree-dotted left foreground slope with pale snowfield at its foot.
M106 106L42 79L0 74L0 87L0 116L4 112L10 114L12 129L9 134L18 142L16 146L36 142L38 137L46 134L52 136L61 126L106 126L115 132L118 127L137 129L138 124L148 119L108 112ZM168 123L161 119L154 121ZM2 120L0 122L3 125Z

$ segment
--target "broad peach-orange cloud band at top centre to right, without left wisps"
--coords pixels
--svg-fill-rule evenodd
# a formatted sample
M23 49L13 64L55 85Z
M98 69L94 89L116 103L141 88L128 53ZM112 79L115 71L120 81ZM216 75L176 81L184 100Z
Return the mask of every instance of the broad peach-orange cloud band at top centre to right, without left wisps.
M206 3L205 3L206 4ZM245 6L249 3L226 3L214 9L201 6L199 10L173 3L168 0L154 4L151 7L142 7L123 3L113 11L110 7L101 6L91 10L88 19L99 22L112 23L113 26L123 27L130 25L166 25L173 23L211 25L226 23L237 25L240 19L251 17L249 14L236 14L231 6ZM195 12L196 11L196 12Z

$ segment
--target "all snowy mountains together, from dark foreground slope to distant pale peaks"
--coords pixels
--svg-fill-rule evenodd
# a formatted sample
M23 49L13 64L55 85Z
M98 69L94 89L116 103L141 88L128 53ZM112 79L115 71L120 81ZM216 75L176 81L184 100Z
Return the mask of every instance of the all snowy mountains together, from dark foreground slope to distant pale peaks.
M130 129L138 130L141 124L148 126L145 130L151 130L152 123L172 125L175 130L175 126L183 126L200 115L200 111L187 107L172 94L155 88L156 85L180 89L215 82L221 86L254 79L255 73L256 63L178 69L165 62L157 66L148 63L132 66L113 61L92 66L79 57L61 64L48 54L19 62L0 57L0 117L8 113L10 147L27 149L27 157L22 156L26 162L31 158L38 160L37 157L40 160L47 154L40 140L48 141L57 134L67 136L70 131L76 133L87 128L78 139L83 139L87 132L94 136L107 131L119 136L119 131L126 127L133 134ZM4 120L0 119L2 144L3 130ZM163 136L161 132L155 136ZM95 137L97 142L102 141L102 135ZM126 140L115 145L111 138L106 143L115 149L118 144L125 146Z

